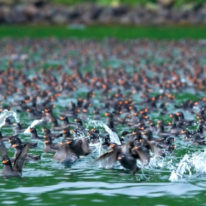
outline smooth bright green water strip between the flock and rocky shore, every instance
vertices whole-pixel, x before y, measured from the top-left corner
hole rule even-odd
[[[1,25],[0,38],[79,38],[79,39],[205,39],[206,27],[204,25],[182,26],[132,26],[132,25],[96,25],[75,29],[66,26],[41,26],[41,25]]]

